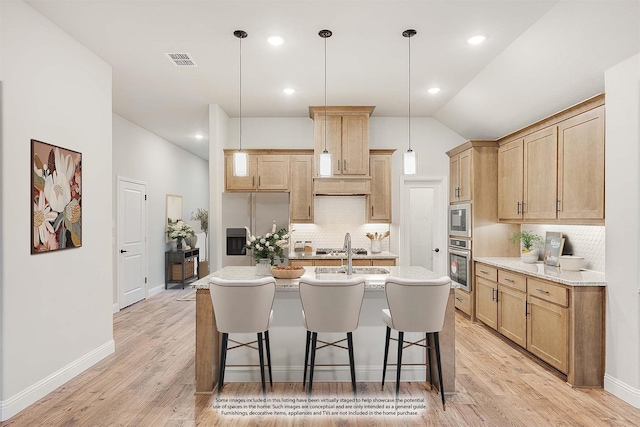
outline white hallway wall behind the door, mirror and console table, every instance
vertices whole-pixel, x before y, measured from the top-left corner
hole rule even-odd
[[[204,142],[203,142],[204,144]],[[113,114],[113,218],[117,219],[117,177],[147,184],[147,250],[148,289],[164,288],[164,253],[175,246],[166,243],[166,195],[182,196],[184,220],[197,208],[209,206],[209,164],[194,154]],[[204,234],[198,237],[201,259],[204,259]],[[114,247],[113,302],[118,302]]]

